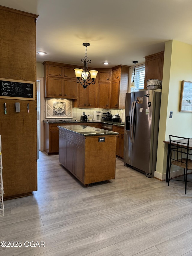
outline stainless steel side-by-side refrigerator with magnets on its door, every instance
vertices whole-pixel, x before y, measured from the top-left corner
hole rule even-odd
[[[156,170],[161,92],[126,93],[125,166],[153,177]]]

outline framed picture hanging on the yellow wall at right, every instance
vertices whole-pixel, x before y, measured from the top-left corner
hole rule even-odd
[[[192,112],[192,82],[182,81],[179,111]]]

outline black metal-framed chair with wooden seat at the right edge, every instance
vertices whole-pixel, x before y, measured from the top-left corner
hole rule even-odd
[[[187,194],[187,171],[192,170],[192,160],[188,159],[189,155],[189,138],[169,135],[170,138],[170,164],[168,175],[168,186],[170,180],[184,181],[185,194]],[[170,178],[171,165],[177,165],[184,169],[183,180]],[[190,181],[191,182],[191,181]]]

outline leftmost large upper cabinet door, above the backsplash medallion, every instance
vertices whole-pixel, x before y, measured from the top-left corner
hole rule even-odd
[[[61,98],[63,95],[63,79],[56,77],[47,78],[47,97]]]

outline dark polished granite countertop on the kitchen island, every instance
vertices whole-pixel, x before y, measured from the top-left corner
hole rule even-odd
[[[118,132],[107,131],[100,128],[91,127],[88,125],[58,125],[58,128],[67,129],[83,136],[107,136],[118,135]]]

